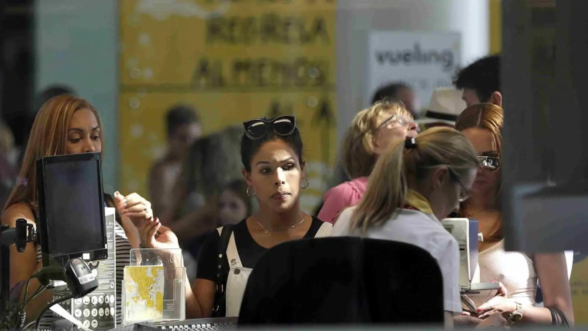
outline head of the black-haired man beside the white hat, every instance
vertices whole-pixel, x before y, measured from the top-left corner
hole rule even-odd
[[[467,107],[482,102],[502,107],[500,55],[486,56],[466,66],[457,73],[453,85],[463,89],[462,99]]]

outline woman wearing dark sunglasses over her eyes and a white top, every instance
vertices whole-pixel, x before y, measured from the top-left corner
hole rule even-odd
[[[500,158],[502,157],[503,110],[492,103],[470,106],[459,116],[456,129],[476,149],[479,168],[472,197],[460,205],[460,216],[477,219],[483,242],[479,243],[480,282],[500,282],[499,293],[470,298],[479,306],[479,316],[502,313],[511,323],[552,323],[552,314],[534,307],[537,278],[544,305],[566,314],[573,324],[572,297],[564,253],[535,254],[505,252],[500,212]],[[533,261],[534,260],[534,261]]]

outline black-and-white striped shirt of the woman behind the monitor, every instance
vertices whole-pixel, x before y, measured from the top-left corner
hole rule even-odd
[[[116,326],[120,326],[122,322],[121,286],[125,266],[128,266],[130,263],[129,253],[131,252],[132,246],[126,236],[125,229],[123,229],[118,222],[115,222],[114,224],[114,233],[116,240]],[[39,245],[36,246],[36,258],[38,263],[43,263],[41,256],[41,246]],[[53,320],[53,313],[51,310],[49,310],[43,315],[43,318],[41,319],[41,329],[51,329],[51,323]]]

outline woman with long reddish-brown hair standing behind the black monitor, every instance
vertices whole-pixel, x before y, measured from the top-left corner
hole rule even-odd
[[[16,220],[21,218],[36,225],[38,217],[36,159],[45,156],[101,151],[102,122],[98,112],[89,102],[70,95],[56,96],[45,102],[32,126],[18,183],[12,189],[2,211],[2,225],[8,225],[12,228],[15,226]],[[123,268],[129,263],[129,250],[138,248],[140,243],[139,233],[134,224],[153,219],[153,213],[151,203],[136,193],[122,196],[115,192],[113,198],[105,195],[105,201],[106,205],[115,207],[120,213],[117,215],[115,223],[116,289],[118,292],[116,299],[118,313],[116,316],[117,320],[120,320],[120,289]],[[156,222],[159,221],[156,220]],[[41,248],[38,243],[29,243],[23,253],[18,253],[12,246],[10,255],[11,287],[26,282],[33,273],[42,268]],[[40,283],[36,279],[32,279],[29,293],[34,293],[39,286]],[[51,291],[45,290],[28,303],[26,315],[36,318],[51,301]],[[51,315],[51,312],[44,315],[41,323],[43,329],[51,328]]]

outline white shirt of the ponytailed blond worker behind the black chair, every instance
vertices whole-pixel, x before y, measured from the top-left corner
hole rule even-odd
[[[341,212],[333,225],[331,236],[360,236],[359,230],[350,232],[349,224],[354,207]],[[443,275],[444,310],[462,312],[459,287],[459,246],[434,215],[417,210],[402,209],[395,218],[382,226],[368,229],[366,238],[394,240],[419,246],[439,263]]]

